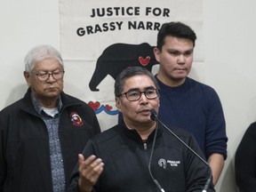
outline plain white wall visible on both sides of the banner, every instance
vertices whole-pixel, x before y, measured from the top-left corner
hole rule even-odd
[[[0,0],[0,109],[27,90],[23,58],[36,44],[60,49],[57,0]],[[234,156],[256,120],[256,1],[204,0],[205,82],[219,93],[228,133],[228,159],[216,187],[235,192]],[[66,79],[66,81],[68,81]]]

